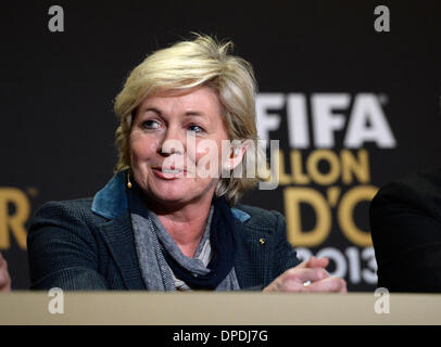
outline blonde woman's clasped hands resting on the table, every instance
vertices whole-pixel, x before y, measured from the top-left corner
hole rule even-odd
[[[346,293],[346,282],[337,277],[330,277],[325,270],[328,258],[312,257],[288,269],[263,292],[293,292],[293,293]]]

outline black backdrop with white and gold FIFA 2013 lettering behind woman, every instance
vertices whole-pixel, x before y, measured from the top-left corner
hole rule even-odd
[[[53,4],[64,10],[63,33],[48,29]],[[390,10],[390,33],[374,29],[380,4]],[[128,72],[190,31],[231,39],[254,66],[260,100],[279,100],[260,117],[276,114],[280,121],[268,136],[280,140],[287,176],[277,190],[253,191],[242,202],[290,215],[288,233],[311,236],[310,244],[294,242],[299,254],[329,256],[330,271],[344,275],[350,290],[375,287],[365,237],[369,196],[392,179],[438,165],[439,2],[21,1],[2,3],[0,13],[0,250],[14,288],[29,283],[24,240],[36,209],[50,200],[93,195],[112,177],[112,102]],[[304,102],[304,112],[288,110],[288,100]],[[323,124],[326,100],[340,104],[333,113],[344,125],[323,145],[326,136],[312,129]],[[306,145],[288,131],[299,115],[310,125]],[[390,141],[366,137],[348,144],[349,120],[357,116],[365,129],[389,129]],[[290,160],[291,151],[303,164]],[[352,181],[339,171],[342,151],[357,163],[368,159]],[[305,164],[312,156],[318,157],[317,179]],[[308,177],[303,183],[292,178],[295,165]],[[326,182],[333,169],[336,179]],[[306,197],[295,205],[295,196]]]

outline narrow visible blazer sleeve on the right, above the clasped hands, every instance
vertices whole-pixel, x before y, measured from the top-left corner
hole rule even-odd
[[[279,211],[273,210],[272,213],[276,216],[277,220],[273,268],[273,280],[275,280],[286,270],[298,266],[300,264],[300,260],[297,257],[297,252],[288,242],[285,217]]]

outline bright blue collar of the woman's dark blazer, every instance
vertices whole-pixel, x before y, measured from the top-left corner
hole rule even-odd
[[[127,211],[126,171],[117,172],[94,196],[92,211],[108,219],[114,219]],[[245,211],[231,208],[232,215],[242,223],[251,218]]]

